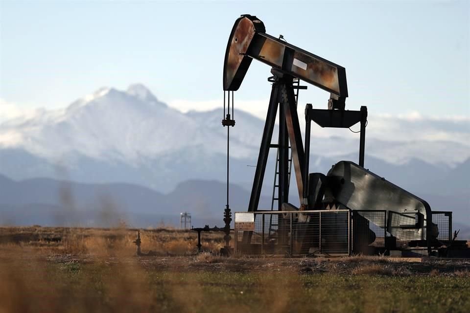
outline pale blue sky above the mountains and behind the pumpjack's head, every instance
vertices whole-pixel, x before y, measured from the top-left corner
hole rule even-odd
[[[348,109],[470,118],[469,3],[2,0],[0,106],[65,107],[138,82],[181,110],[221,106],[228,36],[252,14],[268,34],[346,67]],[[235,106],[263,111],[269,75],[253,62]],[[328,97],[312,86],[300,100],[326,108]]]

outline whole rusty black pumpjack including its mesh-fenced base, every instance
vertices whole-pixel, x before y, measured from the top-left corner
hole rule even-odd
[[[367,107],[362,106],[359,111],[346,110],[348,86],[345,68],[285,42],[282,36],[268,35],[264,23],[251,15],[242,15],[235,21],[225,52],[222,124],[228,128],[227,154],[229,129],[235,126],[233,92],[240,88],[253,60],[271,67],[272,76],[268,81],[272,89],[247,210],[253,213],[253,221],[250,222],[253,228],[243,229],[239,238],[235,213],[235,245],[238,244],[239,250],[253,253],[289,249],[290,253],[328,253],[326,251],[334,250],[341,237],[347,238],[347,254],[395,250],[447,256],[468,254],[463,241],[456,241],[455,236],[451,238],[451,212],[431,211],[423,199],[364,168]],[[311,104],[306,104],[305,140],[297,114],[299,89],[306,89],[300,82],[329,92],[327,109],[314,109]],[[279,137],[277,143],[272,143],[276,116]],[[350,128],[360,123],[358,163],[342,160],[334,164],[326,175],[309,173],[310,150],[318,149],[320,144],[310,142],[312,121],[323,128]],[[274,204],[272,211],[266,212],[269,210],[258,209],[258,204],[272,148],[277,149],[274,182],[277,193],[273,192],[277,212],[273,210]],[[228,201],[228,160],[224,214],[227,243],[232,221]],[[300,207],[289,202],[292,165]],[[337,213],[341,212],[345,213],[340,217]],[[257,219],[261,221],[258,223]],[[348,227],[339,227],[345,223]]]

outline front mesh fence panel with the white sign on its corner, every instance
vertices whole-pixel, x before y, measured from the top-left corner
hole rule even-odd
[[[253,222],[246,224],[248,219]],[[349,255],[351,226],[350,210],[235,212],[235,250],[249,254]]]

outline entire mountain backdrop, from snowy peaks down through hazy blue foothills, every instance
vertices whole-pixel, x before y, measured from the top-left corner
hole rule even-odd
[[[98,89],[63,110],[37,110],[3,121],[2,223],[40,224],[32,217],[73,207],[73,212],[88,212],[77,217],[80,223],[99,224],[100,218],[91,212],[107,206],[140,226],[162,219],[174,222],[180,211],[192,212],[201,223],[214,221],[217,214],[215,220],[221,221],[227,149],[222,115],[221,109],[179,112],[138,84],[125,91]],[[256,164],[264,121],[243,111],[235,111],[235,120],[231,206],[244,211],[254,175],[247,165]],[[341,159],[356,161],[358,134],[341,131],[313,128],[311,172],[326,173]],[[262,206],[270,205],[274,150],[270,157]],[[470,224],[469,157],[467,119],[369,117],[365,167],[433,208],[454,211],[454,221],[464,224]],[[67,199],[73,199],[73,205]],[[10,213],[20,211],[24,214],[11,220]],[[43,221],[54,223],[52,218]]]

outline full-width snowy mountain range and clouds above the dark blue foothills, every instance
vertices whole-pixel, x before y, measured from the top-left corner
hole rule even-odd
[[[101,88],[65,109],[36,110],[1,123],[0,173],[13,179],[129,182],[162,192],[187,179],[223,181],[227,128],[221,126],[222,115],[221,109],[182,113],[141,84],[127,90]],[[256,164],[264,122],[238,110],[234,117],[232,181],[249,189],[254,169],[247,165]],[[423,181],[416,175],[395,175],[397,168],[414,168],[429,177],[470,157],[470,123],[465,119],[369,119],[366,167],[390,172],[399,178],[397,183],[400,177],[414,186]],[[357,151],[358,134],[312,128],[312,171],[326,172],[340,159],[355,160]],[[275,156],[270,157],[274,162]]]

